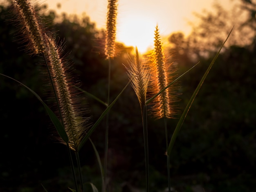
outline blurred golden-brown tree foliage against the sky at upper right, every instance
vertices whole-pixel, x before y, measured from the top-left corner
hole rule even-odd
[[[231,45],[242,47],[251,45],[256,36],[255,4],[240,1],[234,4],[234,7],[229,7],[229,9],[230,11],[215,3],[213,11],[204,10],[203,13],[195,13],[198,22],[190,22],[192,26],[191,34],[186,38],[178,37],[179,33],[173,34],[169,37],[169,42],[189,51],[187,54],[195,60],[202,56],[211,57],[218,50],[218,47],[222,45],[222,42],[234,26],[225,48]],[[180,38],[184,38],[182,44],[177,40]],[[175,49],[175,46],[173,49]]]

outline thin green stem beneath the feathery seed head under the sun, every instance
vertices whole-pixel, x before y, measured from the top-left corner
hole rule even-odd
[[[145,151],[145,167],[146,167],[146,192],[149,191],[149,164],[148,164],[148,120],[147,120],[147,105],[143,106],[142,125],[144,137],[144,151]]]

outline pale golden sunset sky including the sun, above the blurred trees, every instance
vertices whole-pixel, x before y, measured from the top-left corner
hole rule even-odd
[[[0,0],[2,1],[2,0]],[[160,34],[167,36],[172,32],[182,31],[188,35],[196,22],[194,12],[211,10],[218,2],[225,8],[239,0],[119,0],[117,15],[117,41],[127,46],[137,46],[141,52],[153,45],[155,26]],[[105,28],[108,0],[39,0],[48,4],[49,10],[57,13],[67,12],[81,14],[85,12],[97,28]],[[57,8],[57,4],[61,8]]]

